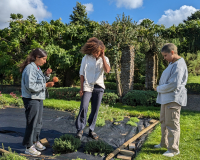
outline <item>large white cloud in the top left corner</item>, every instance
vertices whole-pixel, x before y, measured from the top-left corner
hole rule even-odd
[[[51,17],[42,0],[0,0],[0,8],[0,29],[9,26],[11,13],[20,13],[24,18],[33,14],[38,21]]]

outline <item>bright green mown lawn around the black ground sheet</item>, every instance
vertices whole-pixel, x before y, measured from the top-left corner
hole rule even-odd
[[[5,96],[9,102],[12,97]],[[80,102],[66,101],[57,99],[46,99],[44,106],[56,110],[67,110],[78,114]],[[89,107],[90,108],[90,107]],[[90,109],[89,109],[90,112]],[[89,114],[88,112],[88,114]],[[127,106],[116,104],[108,106],[102,104],[98,114],[97,125],[102,126],[105,120],[121,119],[122,116],[150,117],[158,119],[160,107],[145,106]],[[173,157],[178,160],[197,160],[200,159],[200,112],[181,111],[181,138],[180,138],[180,155]],[[160,143],[161,128],[157,125],[155,130],[148,136],[147,141],[143,144],[142,150],[136,157],[136,160],[168,160],[162,156],[166,149],[155,149],[154,145]]]

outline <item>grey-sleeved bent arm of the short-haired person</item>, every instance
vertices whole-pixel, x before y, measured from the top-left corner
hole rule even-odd
[[[184,70],[177,68],[172,73],[166,84],[157,86],[157,92],[158,93],[173,92],[176,88],[178,88],[181,85],[183,75],[184,75]]]

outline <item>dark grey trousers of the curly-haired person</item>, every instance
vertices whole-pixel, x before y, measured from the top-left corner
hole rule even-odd
[[[81,106],[75,125],[77,131],[83,130],[87,124],[87,111],[91,99],[91,113],[88,119],[90,130],[94,131],[99,107],[103,97],[104,89],[98,85],[94,86],[93,92],[84,92],[81,98]]]

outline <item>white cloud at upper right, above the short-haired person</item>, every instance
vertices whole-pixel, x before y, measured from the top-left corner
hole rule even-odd
[[[192,13],[196,12],[198,9],[192,6],[182,6],[178,10],[166,10],[165,14],[158,20],[158,24],[164,24],[166,27],[170,27],[173,24],[178,25],[182,23],[183,20],[187,19]]]

